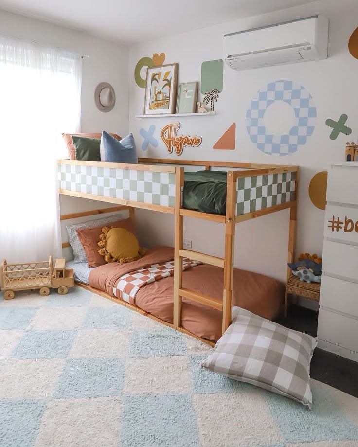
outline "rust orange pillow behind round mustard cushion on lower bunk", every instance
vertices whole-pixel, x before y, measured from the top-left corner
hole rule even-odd
[[[125,228],[125,230],[128,230],[129,232],[136,235],[134,223],[130,218],[111,222],[110,224],[108,224],[108,227]],[[83,246],[83,250],[85,250],[89,267],[99,267],[107,264],[107,261],[105,261],[104,257],[98,253],[97,243],[100,240],[100,234],[103,233],[102,228],[103,225],[101,225],[100,227],[83,228],[82,230],[76,230],[78,239]]]

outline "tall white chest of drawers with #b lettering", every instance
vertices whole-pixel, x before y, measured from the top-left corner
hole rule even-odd
[[[358,361],[358,162],[331,163],[318,346]]]

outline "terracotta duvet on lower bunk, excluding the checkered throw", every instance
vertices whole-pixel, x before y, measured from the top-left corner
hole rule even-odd
[[[139,260],[111,263],[90,272],[89,284],[114,296],[113,288],[119,278],[133,270],[161,264],[174,259],[174,249],[157,247],[147,251]],[[222,300],[223,269],[208,264],[183,272],[183,287]],[[136,294],[131,304],[166,322],[173,322],[174,277],[147,284]],[[279,281],[258,273],[234,269],[233,305],[243,307],[263,318],[272,320],[281,310],[285,287]],[[218,340],[221,337],[222,313],[216,309],[183,298],[182,326],[199,337]]]

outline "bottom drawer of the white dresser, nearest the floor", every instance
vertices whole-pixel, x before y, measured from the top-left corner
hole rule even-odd
[[[320,309],[318,338],[358,352],[358,320]]]

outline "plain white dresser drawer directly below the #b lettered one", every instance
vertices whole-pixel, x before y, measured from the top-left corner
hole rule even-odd
[[[323,242],[322,271],[358,281],[358,246]]]

